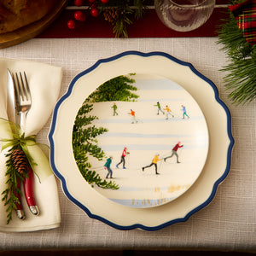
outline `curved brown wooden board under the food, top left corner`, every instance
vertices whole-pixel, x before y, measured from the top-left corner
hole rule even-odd
[[[61,14],[61,11],[66,7],[66,5],[67,0],[57,1],[55,8],[41,20],[35,21],[27,26],[20,27],[14,32],[0,34],[0,49],[20,44],[26,40],[36,37]]]

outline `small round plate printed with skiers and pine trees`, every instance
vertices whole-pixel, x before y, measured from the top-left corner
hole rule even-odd
[[[156,207],[182,195],[200,175],[207,151],[207,123],[195,100],[172,80],[150,74],[100,84],[84,99],[73,128],[85,181],[127,207]]]

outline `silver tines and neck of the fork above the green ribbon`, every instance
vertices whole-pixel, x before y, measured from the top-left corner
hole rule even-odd
[[[31,108],[32,100],[29,85],[26,79],[26,73],[15,73],[13,75],[15,84],[15,97],[17,112],[20,114],[21,131],[25,131],[26,127],[26,113]]]

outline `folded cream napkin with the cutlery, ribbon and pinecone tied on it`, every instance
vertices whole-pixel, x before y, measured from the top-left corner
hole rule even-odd
[[[61,224],[49,147],[36,142],[61,87],[61,67],[1,59],[0,230],[53,229]],[[50,75],[49,75],[50,74]]]

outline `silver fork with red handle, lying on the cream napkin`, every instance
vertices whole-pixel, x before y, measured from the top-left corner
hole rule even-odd
[[[26,128],[26,114],[32,106],[32,97],[29,89],[29,85],[26,78],[26,73],[15,73],[13,75],[14,85],[15,85],[15,98],[16,98],[16,110],[20,114],[20,129],[21,133],[25,131]],[[38,206],[35,203],[32,189],[32,179],[33,172],[31,166],[28,166],[28,177],[23,181],[23,189],[26,197],[26,203],[34,215],[39,214]]]

